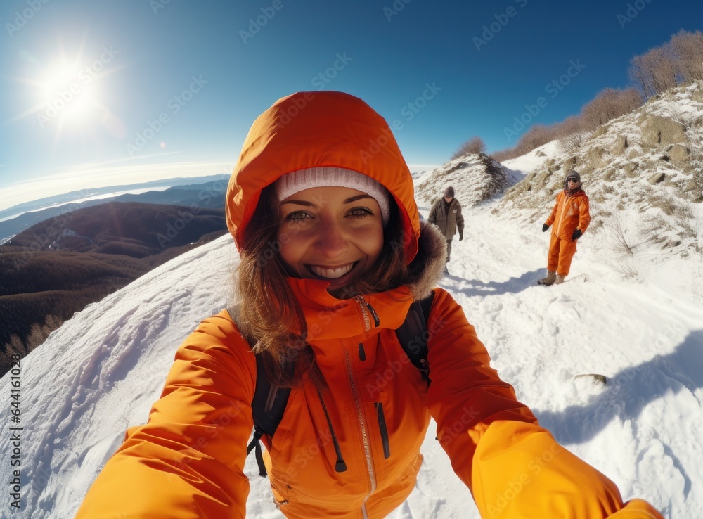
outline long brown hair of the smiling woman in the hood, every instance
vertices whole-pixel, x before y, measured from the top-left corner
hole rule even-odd
[[[254,216],[242,233],[237,281],[241,326],[245,333],[256,338],[252,350],[263,354],[266,375],[272,384],[297,386],[309,374],[318,387],[324,387],[321,374],[315,369],[314,353],[305,342],[307,323],[288,285],[290,273],[278,253],[280,220],[280,205],[272,184],[262,190]],[[404,245],[410,238],[404,234],[398,207],[392,199],[383,238],[383,248],[375,264],[364,274],[363,281],[359,279],[344,290],[344,298],[384,292],[408,282]],[[286,369],[291,362],[295,365],[292,372]]]

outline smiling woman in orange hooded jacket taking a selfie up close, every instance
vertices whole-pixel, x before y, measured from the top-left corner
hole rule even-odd
[[[387,143],[363,153],[381,135]],[[333,91],[277,101],[247,136],[226,215],[240,254],[236,319],[268,369],[230,312],[202,321],[77,519],[243,518],[259,376],[292,387],[264,436],[289,519],[391,513],[415,488],[431,418],[482,517],[663,519],[645,501],[624,503],[498,378],[463,309],[436,288],[446,239],[420,224],[406,162],[366,103]],[[395,329],[432,291],[427,385]]]

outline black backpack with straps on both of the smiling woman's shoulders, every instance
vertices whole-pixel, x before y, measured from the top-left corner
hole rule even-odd
[[[408,359],[413,363],[423,376],[423,380],[429,386],[432,380],[430,379],[430,365],[427,364],[427,319],[430,317],[430,308],[434,301],[434,290],[430,295],[423,300],[414,301],[408,309],[405,321],[396,329],[396,336]],[[227,309],[232,320],[236,323],[237,328],[240,328],[239,314],[240,305],[234,305]],[[241,331],[241,330],[240,330]],[[244,338],[249,343],[250,347],[256,344],[256,339],[249,335],[244,335]],[[252,399],[252,415],[254,417],[254,437],[247,446],[247,456],[255,449],[255,456],[259,465],[259,475],[266,477],[266,467],[264,466],[264,457],[262,456],[261,437],[268,435],[273,438],[273,433],[278,428],[285,406],[288,404],[290,396],[290,387],[276,387],[271,385],[271,381],[266,377],[264,369],[264,357],[262,354],[256,354],[257,360],[257,385],[254,389],[254,398]],[[287,368],[292,373],[295,369],[295,364],[290,363]],[[326,411],[325,411],[326,414]],[[339,466],[340,463],[342,466]],[[337,471],[343,472],[347,470],[344,461],[337,463]]]

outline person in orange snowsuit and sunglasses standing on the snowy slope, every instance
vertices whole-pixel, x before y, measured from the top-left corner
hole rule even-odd
[[[557,194],[551,214],[542,225],[542,232],[545,232],[555,224],[547,254],[547,277],[539,280],[541,285],[564,283],[576,254],[576,241],[590,223],[588,196],[581,188],[581,175],[572,169],[564,181],[564,189]]]

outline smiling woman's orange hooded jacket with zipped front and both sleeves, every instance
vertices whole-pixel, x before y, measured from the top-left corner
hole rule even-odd
[[[430,387],[409,363],[394,328],[436,283],[444,241],[430,224],[420,229],[411,177],[389,134],[352,96],[295,94],[254,123],[230,184],[228,219],[238,238],[262,187],[280,174],[318,165],[365,172],[401,207],[402,245],[420,267],[407,286],[350,300],[329,295],[325,281],[290,278],[330,388],[321,395],[309,383],[292,390],[273,441],[266,438],[280,511],[300,519],[384,517],[415,486],[432,417],[484,517],[661,519],[644,501],[624,506],[610,480],[537,425],[444,290],[437,289],[429,318]],[[179,347],[148,423],[127,432],[77,518],[244,517],[256,376],[254,355],[228,313],[202,321]],[[331,430],[344,472],[335,470]]]

